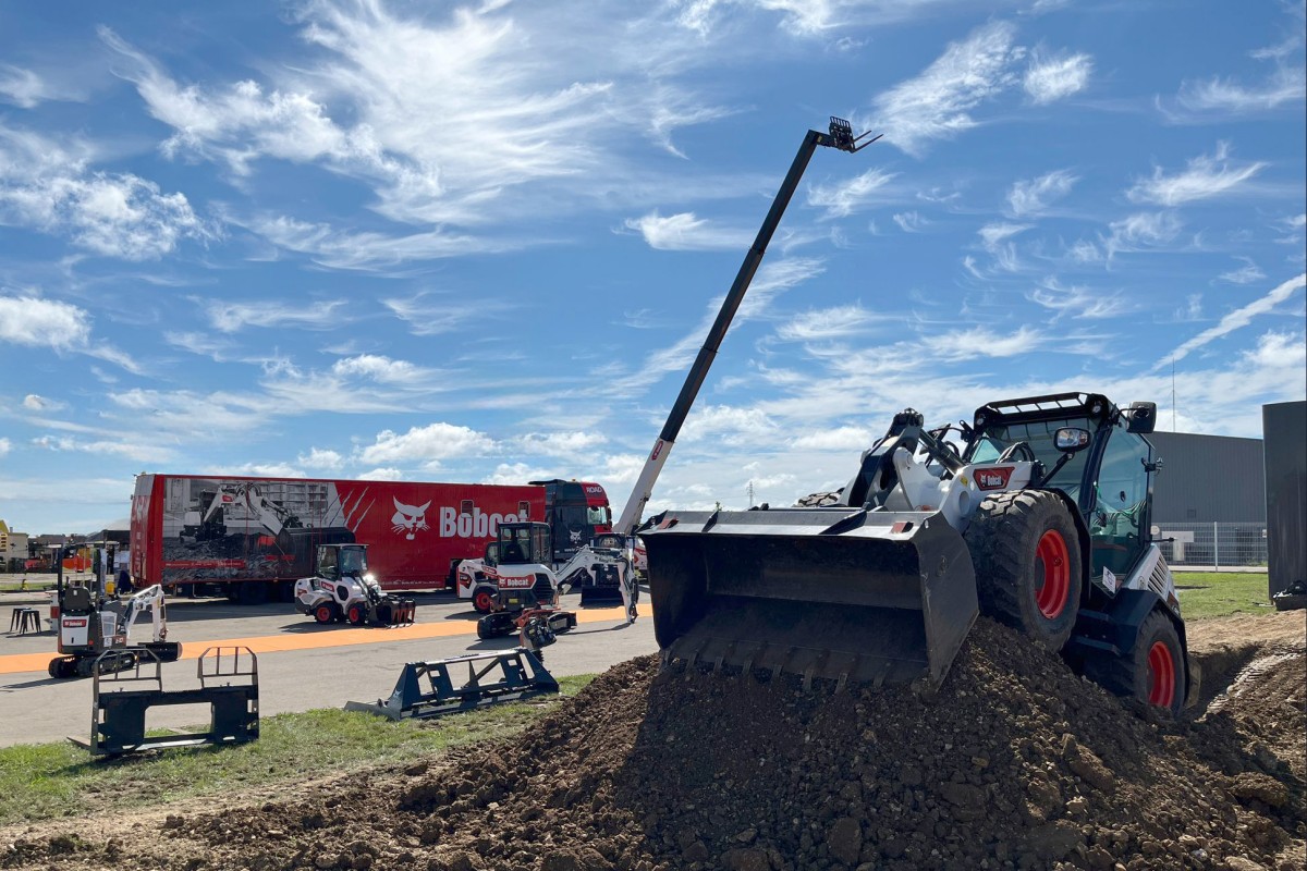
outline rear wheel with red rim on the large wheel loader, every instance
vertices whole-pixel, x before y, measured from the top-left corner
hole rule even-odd
[[[1180,635],[1162,611],[1144,618],[1132,650],[1120,657],[1086,659],[1085,675],[1117,696],[1137,699],[1172,714],[1180,713],[1188,689]]]

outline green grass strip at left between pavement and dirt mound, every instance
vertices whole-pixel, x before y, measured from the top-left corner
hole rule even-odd
[[[593,675],[561,678],[563,696]],[[391,722],[333,709],[264,717],[259,739],[238,747],[165,750],[94,760],[67,742],[0,748],[0,825],[93,815],[133,804],[230,794],[430,757],[524,730],[557,697],[427,721]],[[165,730],[166,734],[166,730]]]

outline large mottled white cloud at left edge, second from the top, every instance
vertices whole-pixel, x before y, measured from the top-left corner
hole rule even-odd
[[[214,238],[184,195],[129,172],[94,171],[88,154],[0,125],[0,222],[120,260],[157,260],[183,239]]]

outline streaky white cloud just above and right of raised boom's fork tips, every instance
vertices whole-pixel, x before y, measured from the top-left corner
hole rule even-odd
[[[931,140],[951,138],[975,127],[971,111],[1016,82],[1010,65],[1023,54],[1013,46],[1016,29],[991,22],[945,52],[916,78],[899,82],[874,99],[876,123],[885,140],[920,155]]]

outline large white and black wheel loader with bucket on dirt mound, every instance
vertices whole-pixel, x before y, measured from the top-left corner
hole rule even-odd
[[[984,612],[1179,710],[1197,675],[1149,535],[1155,413],[1094,393],[991,402],[958,447],[907,409],[836,504],[654,517],[659,646],[806,683],[938,686]]]

